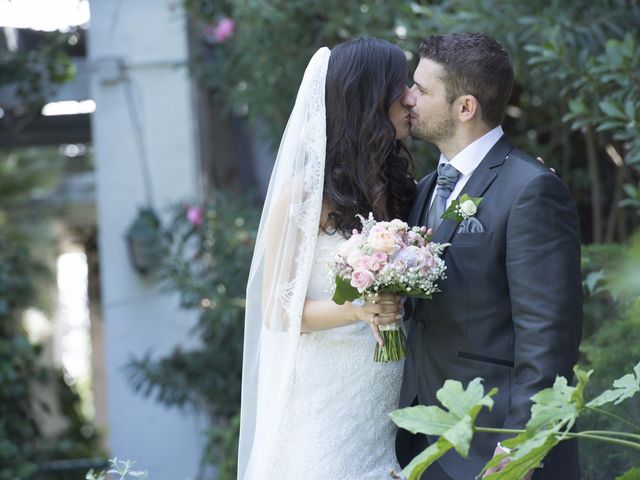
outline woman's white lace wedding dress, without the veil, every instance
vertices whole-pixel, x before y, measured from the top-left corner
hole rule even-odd
[[[327,266],[344,241],[318,236],[307,298],[331,298]],[[301,335],[269,479],[385,479],[400,471],[387,414],[398,406],[403,362],[374,363],[374,342],[364,322]]]

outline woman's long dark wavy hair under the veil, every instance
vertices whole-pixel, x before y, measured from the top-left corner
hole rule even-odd
[[[416,195],[413,161],[395,139],[388,113],[406,77],[404,53],[385,40],[360,38],[331,51],[325,92],[325,231],[348,237],[361,227],[356,214],[369,212],[376,220],[406,220]]]

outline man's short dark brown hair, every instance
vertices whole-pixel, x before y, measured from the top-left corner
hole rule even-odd
[[[420,44],[420,58],[439,63],[449,103],[461,95],[473,95],[482,120],[489,126],[502,123],[511,97],[513,69],[509,54],[484,33],[433,35]]]

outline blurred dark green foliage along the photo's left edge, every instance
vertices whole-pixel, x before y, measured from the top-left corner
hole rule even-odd
[[[47,460],[97,452],[98,437],[86,429],[77,394],[62,372],[38,364],[40,347],[22,327],[25,309],[50,309],[55,250],[43,201],[61,167],[37,149],[0,152],[0,480],[32,478]],[[41,435],[34,382],[52,384],[60,395],[70,426],[57,438]],[[47,403],[38,406],[49,409]]]

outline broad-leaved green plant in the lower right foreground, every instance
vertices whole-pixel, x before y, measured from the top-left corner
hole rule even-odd
[[[584,391],[591,374],[591,371],[576,366],[575,387],[570,386],[566,378],[557,377],[553,387],[541,390],[531,397],[533,406],[526,428],[516,437],[502,442],[506,447],[513,449],[512,452],[493,458],[480,474],[509,457],[509,463],[501,471],[488,475],[487,479],[521,480],[527,472],[540,467],[544,458],[558,443],[568,437],[580,436],[579,433],[570,433],[580,414],[608,403],[618,404],[640,392],[638,363],[633,373],[613,382],[612,390],[607,390],[586,402]],[[433,462],[452,448],[466,458],[474,431],[483,430],[482,426],[475,425],[475,419],[483,407],[492,408],[491,397],[496,392],[497,389],[494,388],[485,395],[481,378],[470,382],[466,390],[460,382],[447,380],[437,393],[438,400],[447,410],[436,406],[417,406],[391,412],[391,419],[400,428],[412,433],[440,437],[414,458],[400,475],[403,478],[408,477],[409,480],[420,478]],[[632,469],[618,480],[640,480],[640,470]]]

